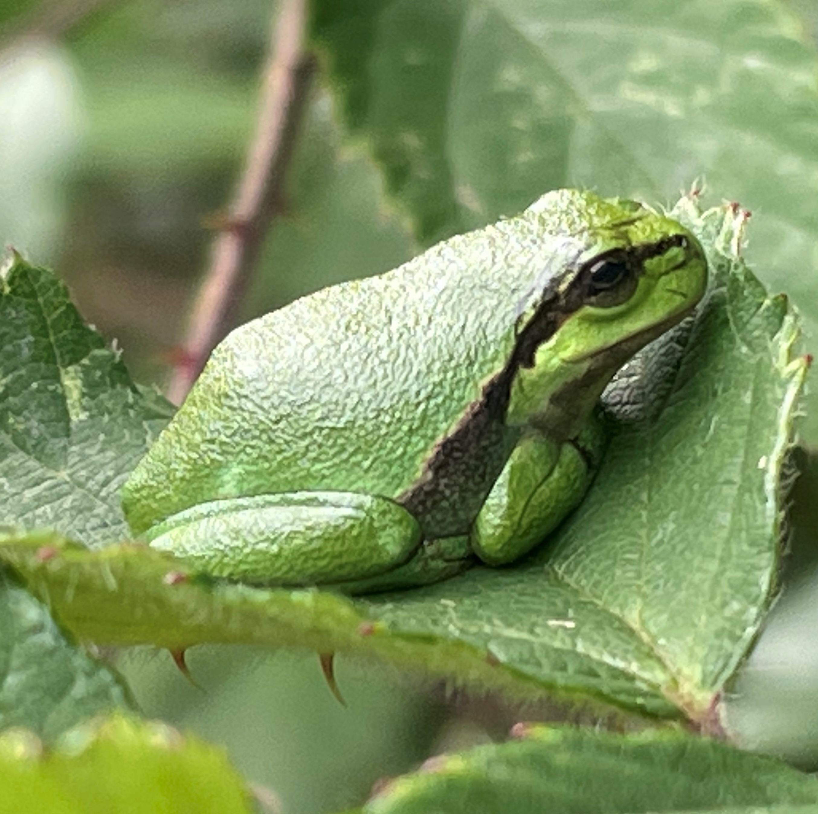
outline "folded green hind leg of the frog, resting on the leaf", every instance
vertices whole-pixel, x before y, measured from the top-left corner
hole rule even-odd
[[[420,548],[422,535],[416,519],[387,498],[292,492],[201,503],[146,538],[213,576],[317,585],[395,570]]]

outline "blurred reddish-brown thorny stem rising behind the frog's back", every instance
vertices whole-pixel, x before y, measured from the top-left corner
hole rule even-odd
[[[193,305],[187,337],[168,387],[184,398],[216,343],[231,327],[249,274],[281,202],[281,186],[315,60],[304,51],[306,0],[285,0],[263,72],[258,122],[236,196],[213,242],[209,270]]]

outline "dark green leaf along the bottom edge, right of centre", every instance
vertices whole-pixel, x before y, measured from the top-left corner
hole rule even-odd
[[[362,812],[818,812],[815,777],[712,740],[519,731],[522,740],[432,758],[386,784]]]

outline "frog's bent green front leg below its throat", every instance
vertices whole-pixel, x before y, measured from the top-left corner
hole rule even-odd
[[[483,562],[513,562],[542,542],[578,506],[605,447],[596,414],[573,441],[525,434],[483,503],[471,530],[471,548]]]

